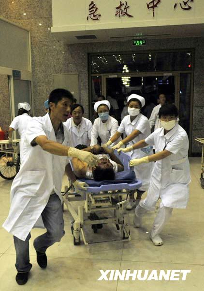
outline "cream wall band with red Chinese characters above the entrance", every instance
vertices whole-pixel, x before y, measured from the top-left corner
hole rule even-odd
[[[204,0],[189,2],[192,6],[190,10],[181,9],[181,0],[161,0],[158,8],[155,8],[154,18],[152,10],[148,10],[146,5],[150,0],[127,0],[130,6],[127,12],[133,17],[115,16],[119,0],[95,0],[97,13],[101,14],[97,21],[90,18],[87,20],[90,2],[91,0],[52,0],[52,32],[204,23]],[[174,9],[175,3],[177,7]]]

